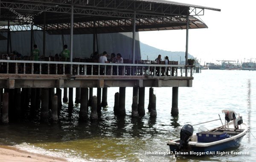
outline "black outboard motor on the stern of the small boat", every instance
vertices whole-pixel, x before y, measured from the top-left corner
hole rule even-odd
[[[180,145],[178,146],[176,151],[180,150],[188,150],[188,139],[193,135],[194,128],[190,124],[185,124],[180,130]]]

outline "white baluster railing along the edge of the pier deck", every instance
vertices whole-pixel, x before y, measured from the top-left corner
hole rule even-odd
[[[113,64],[59,61],[0,60],[0,73],[39,75],[151,75],[190,76],[193,66],[165,64]],[[179,71],[179,72],[178,72]]]

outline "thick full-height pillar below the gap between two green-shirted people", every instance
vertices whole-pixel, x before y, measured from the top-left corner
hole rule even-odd
[[[49,109],[49,88],[42,88],[41,95],[41,121],[44,123],[48,123],[48,109]]]

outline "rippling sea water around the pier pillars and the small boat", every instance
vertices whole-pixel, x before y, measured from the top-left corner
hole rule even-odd
[[[119,89],[108,88],[108,107],[102,108],[102,116],[97,122],[79,122],[79,104],[75,105],[72,116],[67,113],[67,104],[63,104],[58,124],[40,124],[34,120],[0,125],[0,144],[77,162],[253,161],[256,158],[256,139],[252,135],[256,134],[256,71],[202,70],[202,73],[193,76],[193,87],[179,88],[178,117],[171,116],[172,87],[154,88],[157,118],[150,118],[149,113],[143,117],[131,117],[130,87],[126,88],[125,96],[127,115],[121,118],[114,116],[114,94]],[[149,88],[145,88],[146,112],[148,91]],[[249,117],[252,134],[243,138],[239,148],[203,157],[175,157],[169,154],[166,142],[179,138],[183,124],[218,119],[218,114],[224,122],[224,114],[221,113],[224,109],[240,113],[244,122],[248,122]],[[211,129],[219,125],[220,120],[201,124],[194,127],[194,133],[199,127]],[[244,152],[249,155],[241,154]]]

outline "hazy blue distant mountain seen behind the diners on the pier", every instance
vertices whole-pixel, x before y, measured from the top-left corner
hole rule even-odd
[[[181,62],[185,62],[185,52],[172,52],[172,51],[165,51],[162,49],[157,49],[155,47],[149,46],[140,42],[140,55],[142,60],[155,60],[158,55],[162,55],[162,59],[166,56],[169,57],[170,61],[179,61],[181,56]],[[194,56],[189,55],[188,58],[194,58]]]

